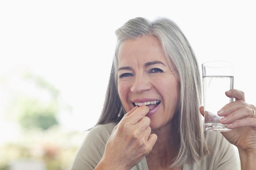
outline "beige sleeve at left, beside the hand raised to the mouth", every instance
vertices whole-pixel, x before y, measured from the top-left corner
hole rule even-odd
[[[94,170],[100,162],[116,124],[97,125],[92,128],[77,152],[71,170]]]

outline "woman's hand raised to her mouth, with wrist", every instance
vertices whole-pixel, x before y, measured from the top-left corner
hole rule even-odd
[[[134,107],[115,126],[95,169],[131,169],[152,150],[157,136],[151,134],[147,106]],[[108,167],[108,168],[107,168]]]

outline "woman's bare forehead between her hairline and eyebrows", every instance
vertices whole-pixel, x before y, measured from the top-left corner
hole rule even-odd
[[[134,60],[167,61],[159,39],[155,36],[144,36],[138,39],[127,39],[120,44],[117,54],[118,65],[127,64]]]

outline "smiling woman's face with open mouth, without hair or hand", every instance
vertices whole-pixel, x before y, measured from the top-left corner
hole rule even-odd
[[[118,94],[125,110],[147,105],[150,127],[172,119],[180,98],[180,84],[155,36],[125,40],[118,51]]]

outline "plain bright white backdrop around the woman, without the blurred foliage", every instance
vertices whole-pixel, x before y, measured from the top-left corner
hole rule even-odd
[[[84,131],[101,113],[115,30],[134,17],[166,16],[181,27],[200,65],[233,62],[234,87],[256,105],[255,8],[254,0],[1,0],[0,76],[27,67],[44,77],[72,106],[71,114],[60,114],[62,123]]]

